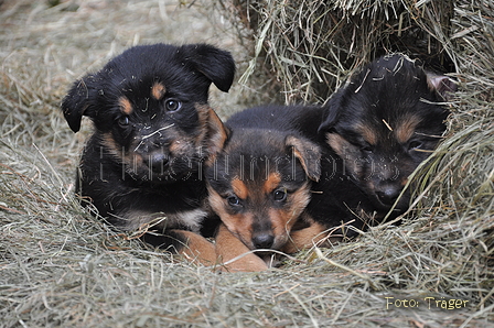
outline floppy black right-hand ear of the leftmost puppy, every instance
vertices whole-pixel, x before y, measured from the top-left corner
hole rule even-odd
[[[184,45],[187,61],[219,90],[227,92],[234,83],[235,61],[232,54],[208,44]]]

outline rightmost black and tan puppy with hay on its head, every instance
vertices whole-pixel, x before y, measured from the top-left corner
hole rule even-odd
[[[448,77],[395,54],[363,67],[324,107],[249,109],[257,120],[288,125],[321,145],[322,173],[307,207],[314,225],[292,232],[294,249],[311,245],[325,229],[351,222],[365,230],[391,209],[391,218],[405,212],[410,192],[404,187],[441,140],[449,114],[443,102],[454,90]]]

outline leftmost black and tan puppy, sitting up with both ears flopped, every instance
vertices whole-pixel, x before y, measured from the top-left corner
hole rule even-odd
[[[206,44],[129,48],[77,80],[62,110],[74,132],[83,116],[95,132],[79,165],[77,193],[111,225],[144,241],[215,261],[197,232],[208,216],[202,165],[224,139],[208,107],[211,83],[227,91],[235,63]]]

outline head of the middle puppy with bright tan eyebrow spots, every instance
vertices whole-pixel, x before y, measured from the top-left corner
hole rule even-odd
[[[206,170],[210,204],[250,250],[280,249],[319,179],[320,151],[312,142],[260,129],[233,132]]]

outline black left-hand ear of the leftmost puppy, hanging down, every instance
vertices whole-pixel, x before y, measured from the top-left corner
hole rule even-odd
[[[96,98],[96,89],[88,83],[89,78],[77,80],[65,98],[62,100],[62,112],[72,131],[80,129],[83,116],[87,116],[87,109]]]

